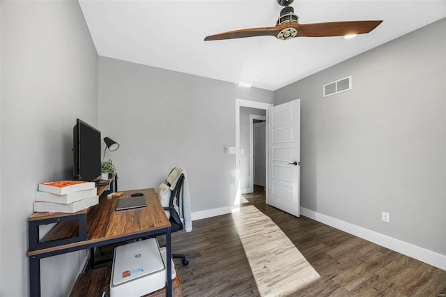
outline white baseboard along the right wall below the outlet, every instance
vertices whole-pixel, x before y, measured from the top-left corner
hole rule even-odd
[[[446,271],[446,255],[301,207],[300,214]]]

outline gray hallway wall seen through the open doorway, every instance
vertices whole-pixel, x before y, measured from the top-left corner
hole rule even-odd
[[[249,160],[252,160],[249,142],[249,115],[258,114],[266,116],[265,109],[251,107],[240,107],[240,149],[245,153],[240,153],[240,190],[249,189],[251,174]]]

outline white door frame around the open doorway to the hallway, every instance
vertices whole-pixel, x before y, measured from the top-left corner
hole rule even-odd
[[[240,107],[252,107],[268,111],[268,108],[273,106],[272,103],[236,98],[236,197],[234,197],[234,206],[238,205],[240,207]],[[268,112],[266,112],[266,123],[268,125]],[[266,132],[266,141],[268,142],[268,131]],[[268,147],[266,148],[266,158],[268,158]],[[268,185],[268,168],[266,168],[265,183]],[[268,192],[266,193],[266,201],[268,201]]]

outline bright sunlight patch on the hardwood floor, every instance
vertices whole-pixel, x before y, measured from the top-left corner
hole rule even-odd
[[[233,220],[261,296],[286,296],[321,278],[275,222],[254,206],[243,208]]]

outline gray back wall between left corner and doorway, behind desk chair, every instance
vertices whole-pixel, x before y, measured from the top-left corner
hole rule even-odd
[[[158,185],[172,167],[189,180],[192,213],[232,206],[236,197],[236,98],[273,102],[272,91],[100,57],[99,123],[119,142],[107,152],[120,190]]]

